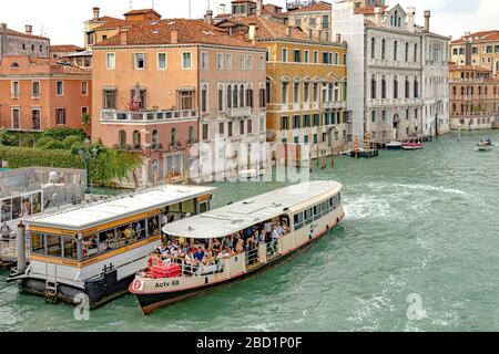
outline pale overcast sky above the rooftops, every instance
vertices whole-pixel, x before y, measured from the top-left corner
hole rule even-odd
[[[192,17],[201,18],[211,8],[217,12],[220,3],[230,0],[191,0]],[[154,8],[163,18],[189,17],[189,0],[132,0],[134,9]],[[285,7],[286,0],[264,0]],[[387,0],[388,6],[400,3],[416,7],[417,23],[422,24],[422,11],[431,10],[431,31],[458,39],[465,32],[499,30],[497,0]],[[33,25],[34,34],[44,34],[52,44],[83,45],[83,21],[92,18],[92,8],[100,7],[101,15],[121,18],[130,10],[131,0],[2,0],[0,22],[12,30],[24,31]]]

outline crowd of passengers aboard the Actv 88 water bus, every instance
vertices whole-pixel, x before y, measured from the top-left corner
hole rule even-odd
[[[254,264],[258,258],[258,244],[267,244],[267,253],[274,254],[277,241],[289,232],[286,218],[276,218],[257,223],[224,239],[196,240],[190,243],[185,238],[163,238],[155,253],[169,259],[184,260],[187,264],[216,264],[220,260],[243,252],[247,253],[248,264]]]

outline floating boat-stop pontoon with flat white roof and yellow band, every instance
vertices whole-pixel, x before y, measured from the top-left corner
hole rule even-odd
[[[165,185],[24,219],[30,264],[8,281],[53,301],[78,304],[86,295],[98,308],[128,292],[161,244],[163,225],[210,210],[213,189]]]

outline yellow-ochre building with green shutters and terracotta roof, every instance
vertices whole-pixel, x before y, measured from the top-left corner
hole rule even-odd
[[[330,155],[347,144],[347,45],[340,38],[319,41],[313,29],[305,33],[264,13],[224,17],[217,27],[266,50],[258,65],[267,72],[268,142],[297,152],[309,146],[309,156],[296,158]]]

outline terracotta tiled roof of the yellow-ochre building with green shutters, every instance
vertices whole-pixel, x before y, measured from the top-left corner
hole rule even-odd
[[[282,22],[273,21],[266,18],[249,15],[246,18],[233,18],[228,20],[234,23],[241,23],[249,27],[249,24],[256,24],[256,38],[257,39],[285,39],[287,38],[287,25]],[[292,38],[294,40],[308,41],[308,35],[298,28],[292,28]],[[314,38],[314,40],[317,40]]]

